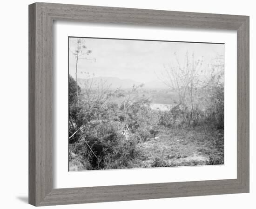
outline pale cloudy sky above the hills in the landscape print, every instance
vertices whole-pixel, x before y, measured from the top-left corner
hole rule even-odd
[[[79,59],[77,77],[87,78],[85,72],[95,77],[117,77],[149,82],[158,79],[164,66],[184,63],[186,52],[194,52],[195,59],[202,59],[206,67],[217,54],[224,55],[224,44],[185,43],[168,41],[93,39],[83,38],[92,53]],[[69,38],[69,74],[75,76],[76,60],[73,55],[77,38]],[[175,55],[176,54],[176,55]]]

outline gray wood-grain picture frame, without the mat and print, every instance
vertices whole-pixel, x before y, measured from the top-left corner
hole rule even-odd
[[[237,178],[53,189],[53,21],[237,31]],[[29,203],[35,206],[249,192],[249,17],[115,7],[29,5]]]

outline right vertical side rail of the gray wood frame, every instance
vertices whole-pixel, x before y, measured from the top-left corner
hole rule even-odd
[[[237,29],[237,179],[249,191],[249,18]]]

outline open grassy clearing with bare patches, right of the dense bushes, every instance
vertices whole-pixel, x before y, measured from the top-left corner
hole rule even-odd
[[[223,131],[162,128],[139,144],[140,167],[223,164]]]

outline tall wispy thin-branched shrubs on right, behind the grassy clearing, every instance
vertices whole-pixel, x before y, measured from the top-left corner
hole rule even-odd
[[[224,59],[218,55],[207,67],[194,53],[183,65],[176,56],[162,72],[162,82],[179,95],[179,103],[161,114],[159,124],[171,127],[207,124],[224,127]]]

